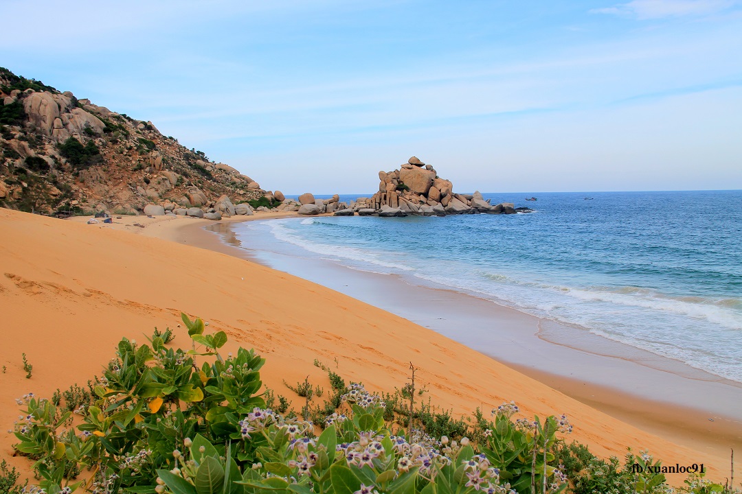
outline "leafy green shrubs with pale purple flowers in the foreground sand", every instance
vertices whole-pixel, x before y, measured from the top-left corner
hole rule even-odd
[[[307,378],[292,387],[305,398],[301,414],[281,396],[275,407],[260,380],[265,359],[241,347],[225,356],[226,333],[182,318],[185,350],[168,346],[170,330],[148,344],[122,338],[88,390],[75,384],[52,399],[17,400],[15,448],[38,480],[24,492],[673,492],[647,452],[629,450],[622,466],[566,444],[565,415],[523,418],[509,402],[464,421],[430,403],[416,407],[424,387],[412,365],[410,382],[384,395],[322,366],[332,389],[324,404],[310,404],[322,393]],[[4,492],[19,493],[16,471],[0,468]],[[736,492],[695,470],[676,492]]]

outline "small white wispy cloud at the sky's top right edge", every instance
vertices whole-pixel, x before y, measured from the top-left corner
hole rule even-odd
[[[708,16],[735,7],[739,0],[632,0],[591,13],[612,14],[641,21],[668,17]]]

